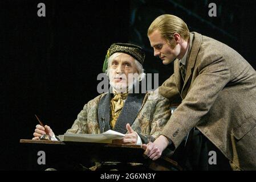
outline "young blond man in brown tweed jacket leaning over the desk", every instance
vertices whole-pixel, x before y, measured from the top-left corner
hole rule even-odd
[[[174,15],[157,17],[148,28],[154,55],[174,61],[174,74],[159,88],[180,96],[159,138],[144,144],[155,160],[171,144],[177,148],[196,127],[230,160],[233,169],[256,169],[256,72],[234,49],[197,32]]]

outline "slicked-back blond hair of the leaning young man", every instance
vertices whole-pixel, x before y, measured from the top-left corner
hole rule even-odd
[[[158,30],[165,40],[171,45],[173,34],[180,34],[181,38],[185,41],[189,40],[189,29],[186,23],[178,16],[164,14],[158,16],[148,28],[148,36],[154,31]]]

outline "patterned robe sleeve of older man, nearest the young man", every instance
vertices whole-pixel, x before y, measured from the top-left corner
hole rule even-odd
[[[139,134],[142,142],[148,143],[149,138],[151,142],[153,142],[157,137],[159,137],[162,129],[164,129],[164,126],[169,118],[170,118],[169,100],[167,98],[161,97],[161,99],[157,101],[155,111],[152,114],[150,136]]]

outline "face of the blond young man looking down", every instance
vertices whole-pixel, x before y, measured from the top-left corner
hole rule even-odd
[[[153,31],[148,38],[151,43],[151,47],[154,49],[154,56],[159,56],[163,64],[172,63],[172,61],[180,55],[180,44],[176,44],[174,48],[171,48],[166,40],[161,37],[158,30]]]

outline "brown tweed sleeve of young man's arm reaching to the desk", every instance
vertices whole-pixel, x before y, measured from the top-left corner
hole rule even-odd
[[[222,57],[201,63],[198,66],[198,76],[190,86],[188,94],[174,111],[161,134],[168,137],[177,148],[192,127],[208,113],[229,80],[229,65]]]

